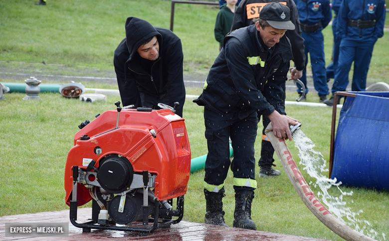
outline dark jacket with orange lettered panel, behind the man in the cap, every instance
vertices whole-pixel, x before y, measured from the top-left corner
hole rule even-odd
[[[305,66],[304,38],[301,36],[299,15],[293,0],[242,0],[235,10],[231,31],[254,24],[252,20],[259,17],[262,7],[275,1],[286,3],[290,9],[290,20],[296,27],[294,30],[287,30],[285,35],[292,45],[293,62],[297,70],[303,70]]]

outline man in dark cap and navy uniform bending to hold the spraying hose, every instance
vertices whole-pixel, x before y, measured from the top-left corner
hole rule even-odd
[[[224,38],[197,100],[204,107],[205,161],[204,195],[207,224],[226,226],[222,198],[230,166],[229,138],[234,150],[233,227],[256,230],[251,203],[256,189],[254,142],[257,112],[272,122],[273,133],[292,140],[289,124],[297,120],[284,111],[282,84],[287,80],[293,58],[286,30],[293,30],[290,10],[273,2],[263,7],[255,25],[243,27]]]

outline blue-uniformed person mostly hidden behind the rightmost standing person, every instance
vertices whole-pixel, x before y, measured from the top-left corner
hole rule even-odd
[[[338,12],[342,0],[332,0],[331,9],[334,11],[332,19],[332,34],[334,35],[334,46],[332,47],[332,62],[326,68],[327,82],[335,77],[335,70],[338,67],[339,45],[341,38],[336,34],[336,24],[338,23]]]

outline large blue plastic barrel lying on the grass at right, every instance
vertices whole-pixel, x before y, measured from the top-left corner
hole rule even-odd
[[[350,92],[341,109],[331,178],[389,191],[389,92]]]

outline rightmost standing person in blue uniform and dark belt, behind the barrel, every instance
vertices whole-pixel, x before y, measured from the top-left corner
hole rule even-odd
[[[339,8],[337,34],[341,38],[338,67],[331,92],[346,91],[354,61],[352,91],[365,91],[374,44],[384,36],[385,0],[343,0]],[[338,104],[340,99],[338,99]],[[324,102],[334,105],[334,96]]]

